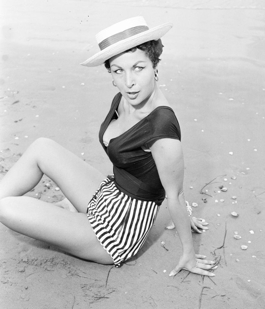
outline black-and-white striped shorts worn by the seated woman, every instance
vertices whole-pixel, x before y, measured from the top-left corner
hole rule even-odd
[[[114,265],[130,259],[143,246],[159,206],[122,193],[108,176],[88,203],[88,220]]]

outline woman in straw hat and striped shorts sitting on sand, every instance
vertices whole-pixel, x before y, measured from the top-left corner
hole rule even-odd
[[[82,63],[105,63],[120,91],[99,133],[114,175],[102,181],[105,177],[83,160],[52,140],[39,138],[1,181],[3,224],[83,259],[118,266],[143,245],[166,193],[183,248],[169,275],[187,269],[214,276],[208,271],[217,267],[212,267],[214,262],[194,253],[190,224],[199,231],[198,227],[207,229],[207,223],[189,220],[180,129],[156,84],[160,37],[171,27],[166,23],[149,29],[142,17],[126,19],[98,33],[101,51]],[[22,196],[43,174],[61,188],[67,198],[62,203],[65,209]],[[67,205],[77,212],[67,211]]]

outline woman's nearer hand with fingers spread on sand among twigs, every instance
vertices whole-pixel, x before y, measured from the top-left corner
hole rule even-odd
[[[195,254],[195,256],[192,257],[182,254],[177,266],[169,273],[169,276],[175,276],[182,269],[185,269],[191,273],[214,277],[215,274],[208,270],[216,269],[218,266],[214,266],[214,261],[204,260],[205,258],[206,256],[200,254]]]

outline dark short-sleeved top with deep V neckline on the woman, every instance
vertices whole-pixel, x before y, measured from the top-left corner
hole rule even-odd
[[[141,146],[160,138],[181,140],[177,118],[168,106],[158,106],[130,129],[112,138],[106,147],[103,134],[109,123],[117,119],[118,106],[122,94],[115,95],[109,113],[100,126],[99,140],[113,163],[114,183],[130,197],[155,201],[161,205],[165,199],[165,190],[161,184],[151,151]]]

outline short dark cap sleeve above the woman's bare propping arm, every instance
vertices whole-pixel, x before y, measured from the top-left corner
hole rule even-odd
[[[170,107],[157,108],[148,118],[150,136],[148,142],[160,138],[181,140],[181,132],[177,117]]]

